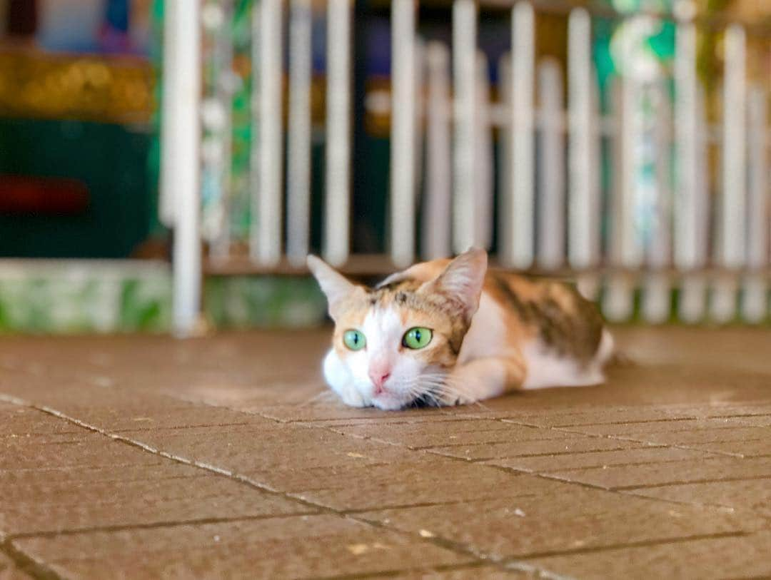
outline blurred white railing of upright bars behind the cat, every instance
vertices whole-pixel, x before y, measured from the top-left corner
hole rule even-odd
[[[191,32],[194,17],[185,15],[186,26],[181,22],[180,6],[188,2],[169,4],[162,207],[178,231],[176,320],[184,334],[200,295],[197,166],[189,142],[197,103],[183,94],[196,80],[189,59],[199,53],[199,41]],[[286,7],[281,0],[261,0],[254,9],[255,219],[247,241],[251,263],[261,271],[278,267],[284,258],[300,267],[310,250],[311,2],[292,0]],[[490,101],[486,57],[477,49],[477,9],[473,0],[453,2],[450,52],[446,45],[420,41],[416,2],[392,2],[387,228],[392,267],[472,244],[490,247],[497,226],[497,263],[570,272],[584,293],[601,298],[611,320],[633,315],[638,292],[641,317],[649,322],[673,315],[685,322],[767,320],[769,82],[766,76],[765,84],[751,85],[746,78],[742,25],[726,28],[721,126],[713,126],[706,121],[696,74],[697,25],[685,9],[676,21],[673,106],[664,72],[644,78],[626,74],[611,91],[611,111],[605,113],[598,103],[587,10],[574,8],[568,15],[566,103],[560,64],[536,58],[537,11],[528,2],[511,9],[513,48],[497,63],[500,99]],[[284,18],[289,31],[285,214]],[[351,28],[352,2],[328,0],[332,42],[327,47],[322,255],[336,266],[355,257],[349,243]],[[643,102],[655,106],[657,114],[641,115]],[[719,153],[717,171],[708,163],[710,149]],[[611,166],[607,187],[603,163]],[[651,169],[645,182],[639,179],[641,166]],[[227,251],[213,252],[212,259],[227,260]],[[676,313],[670,311],[673,290],[679,295]]]

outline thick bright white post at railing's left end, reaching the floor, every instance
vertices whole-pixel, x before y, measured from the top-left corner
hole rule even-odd
[[[186,337],[200,310],[200,4],[167,0],[164,33],[169,118],[163,125],[161,183],[174,223],[173,328]]]

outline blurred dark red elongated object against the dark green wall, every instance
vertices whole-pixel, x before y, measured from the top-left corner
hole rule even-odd
[[[0,213],[71,216],[88,206],[89,189],[77,179],[0,176]]]

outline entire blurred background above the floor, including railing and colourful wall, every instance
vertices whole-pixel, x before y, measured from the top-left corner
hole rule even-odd
[[[0,0],[0,330],[305,326],[470,245],[767,324],[767,0]]]

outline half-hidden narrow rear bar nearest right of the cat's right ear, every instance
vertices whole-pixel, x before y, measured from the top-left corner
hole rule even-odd
[[[510,263],[511,246],[511,55],[506,53],[498,61],[498,95],[501,116],[498,142],[498,255],[503,263]],[[508,256],[508,257],[507,257]]]

